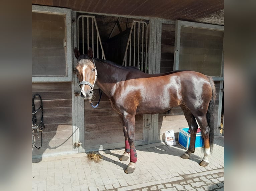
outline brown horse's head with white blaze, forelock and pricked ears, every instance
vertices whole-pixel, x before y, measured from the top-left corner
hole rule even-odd
[[[81,90],[81,97],[84,99],[91,99],[93,96],[93,88],[97,80],[97,70],[93,61],[93,50],[91,47],[88,54],[80,55],[77,47],[74,50],[77,58],[77,77],[79,80],[78,86]]]

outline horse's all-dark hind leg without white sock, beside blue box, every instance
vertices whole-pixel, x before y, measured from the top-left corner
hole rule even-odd
[[[189,130],[190,130],[190,143],[188,146],[188,150],[180,157],[183,159],[189,159],[190,154],[195,152],[195,143],[196,143],[196,134],[197,134],[198,124],[195,116],[190,112],[190,110],[186,106],[180,105],[180,107],[184,112]]]

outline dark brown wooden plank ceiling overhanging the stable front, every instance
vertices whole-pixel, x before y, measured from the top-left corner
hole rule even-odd
[[[32,4],[224,25],[224,0],[32,0]]]

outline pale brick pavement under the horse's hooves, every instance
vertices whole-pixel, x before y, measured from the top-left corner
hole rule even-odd
[[[204,154],[196,149],[188,160],[179,144],[136,146],[138,161],[133,174],[125,174],[129,161],[119,161],[124,149],[100,151],[99,163],[86,153],[32,160],[32,190],[224,190],[224,138],[215,138],[207,167],[199,166]]]

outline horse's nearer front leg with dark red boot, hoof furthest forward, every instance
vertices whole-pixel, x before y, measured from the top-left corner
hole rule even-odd
[[[128,164],[127,168],[125,169],[125,173],[131,174],[135,170],[135,163],[137,162],[137,153],[134,146],[134,140],[135,140],[135,113],[128,114],[127,112],[124,112],[123,115],[123,121],[126,126],[127,130],[127,137],[128,142],[130,145],[130,163]]]

